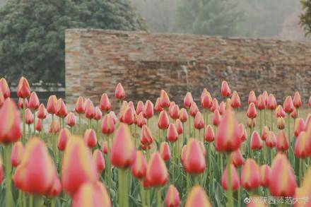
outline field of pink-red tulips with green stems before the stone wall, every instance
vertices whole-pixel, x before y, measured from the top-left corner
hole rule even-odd
[[[70,111],[1,78],[0,206],[311,206],[311,97],[206,88],[132,102],[118,83]]]

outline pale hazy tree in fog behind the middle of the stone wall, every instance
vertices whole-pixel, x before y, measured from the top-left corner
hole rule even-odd
[[[200,35],[236,36],[241,13],[234,0],[181,0],[177,27]]]

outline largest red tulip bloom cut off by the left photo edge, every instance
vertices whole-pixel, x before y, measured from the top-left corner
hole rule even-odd
[[[0,143],[9,144],[16,142],[22,136],[20,112],[15,102],[10,98],[4,101],[0,108]]]

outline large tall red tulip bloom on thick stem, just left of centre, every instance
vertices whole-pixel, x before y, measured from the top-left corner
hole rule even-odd
[[[135,159],[135,146],[127,124],[120,124],[112,142],[111,162],[119,168],[127,168]]]

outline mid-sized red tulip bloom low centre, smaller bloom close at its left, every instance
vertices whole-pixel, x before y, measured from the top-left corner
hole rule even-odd
[[[153,153],[148,162],[146,182],[149,187],[160,187],[168,183],[168,169],[160,153]]]

